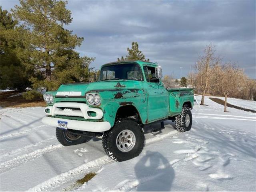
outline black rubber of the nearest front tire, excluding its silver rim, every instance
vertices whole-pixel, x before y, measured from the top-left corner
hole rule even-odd
[[[116,139],[120,132],[130,130],[134,133],[136,142],[134,147],[128,152],[122,152],[118,149]],[[116,121],[114,127],[103,133],[102,146],[106,154],[117,162],[126,161],[138,156],[145,146],[145,136],[142,128],[131,118],[122,118]]]

